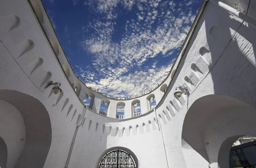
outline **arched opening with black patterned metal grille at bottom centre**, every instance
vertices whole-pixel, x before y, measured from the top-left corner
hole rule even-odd
[[[128,148],[109,148],[99,156],[96,168],[138,168],[137,156]]]

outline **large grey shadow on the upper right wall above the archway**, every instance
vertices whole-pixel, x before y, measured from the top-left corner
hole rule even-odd
[[[228,5],[233,6],[231,3]],[[221,8],[216,4],[211,5]],[[246,14],[248,6],[242,6]],[[214,15],[205,20],[209,55],[212,59],[209,68],[212,68],[210,74],[214,92],[256,106],[256,29],[244,21],[235,20],[234,16],[224,9],[220,10],[221,20],[215,22],[215,25]],[[231,31],[236,33],[231,34]]]

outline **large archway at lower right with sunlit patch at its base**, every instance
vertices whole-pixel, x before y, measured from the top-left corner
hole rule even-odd
[[[236,98],[220,95],[198,98],[183,122],[182,149],[186,162],[229,167],[230,149],[236,139],[256,136],[255,118],[256,108]]]

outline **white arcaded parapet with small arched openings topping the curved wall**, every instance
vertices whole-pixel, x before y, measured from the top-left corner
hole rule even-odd
[[[77,96],[79,97],[80,101],[83,102],[84,98],[86,96],[87,93],[91,93],[94,96],[94,99],[92,99],[92,107],[91,110],[93,110],[96,113],[99,113],[100,110],[100,105],[101,105],[101,101],[103,99],[107,99],[110,103],[109,103],[109,107],[108,107],[108,117],[114,118],[116,119],[116,104],[118,102],[125,102],[125,119],[129,119],[131,117],[134,116],[134,113],[132,111],[132,104],[131,102],[134,99],[138,99],[140,100],[140,107],[141,107],[141,114],[147,113],[150,108],[147,105],[147,96],[149,94],[154,94],[155,99],[156,99],[156,103],[158,104],[161,100],[161,98],[164,95],[164,92],[160,90],[161,86],[168,85],[169,82],[171,81],[171,72],[169,73],[168,77],[163,81],[162,84],[160,84],[157,88],[155,88],[154,90],[152,90],[150,93],[147,93],[143,96],[139,96],[136,98],[132,98],[132,99],[115,99],[115,98],[110,98],[107,96],[104,96],[94,90],[90,90],[88,87],[85,86],[85,84],[83,82],[81,82],[79,80],[79,78],[76,76],[76,74],[73,72],[73,68],[70,66],[65,53],[61,47],[61,44],[58,41],[57,36],[55,35],[55,31],[51,25],[51,22],[47,16],[46,11],[44,10],[44,6],[41,3],[41,0],[37,0],[39,6],[41,7],[41,11],[43,13],[44,16],[44,23],[42,23],[42,28],[44,29],[44,32],[47,36],[47,38],[49,39],[49,43],[51,43],[52,45],[52,49],[55,52],[55,56],[58,57],[58,61],[60,62],[60,64],[62,65],[62,68],[66,74],[66,77],[68,78],[68,80],[70,81],[70,84],[74,87],[78,86],[78,90],[76,91]],[[52,42],[54,41],[54,42]],[[58,50],[58,54],[56,54],[56,51]],[[177,65],[175,65],[177,67]],[[174,70],[174,67],[172,67],[172,70]],[[172,71],[171,70],[171,71]]]

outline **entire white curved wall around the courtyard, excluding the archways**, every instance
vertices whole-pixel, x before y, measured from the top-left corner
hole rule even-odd
[[[43,9],[40,1],[38,4]],[[250,3],[252,4],[255,3]],[[170,82],[166,94],[162,95],[163,98],[157,98],[157,91],[152,92],[155,92],[158,101],[156,109],[131,119],[128,118],[132,113],[128,113],[129,116],[124,120],[105,117],[88,108],[84,113],[81,100],[88,92],[95,94],[97,103],[102,99],[110,101],[108,116],[113,118],[113,111],[116,111],[119,102],[124,102],[131,112],[131,104],[135,98],[106,98],[84,88],[71,69],[68,81],[67,69],[63,69],[61,65],[69,64],[45,11],[42,13],[43,27],[26,0],[15,3],[13,0],[1,1],[0,25],[5,26],[0,26],[0,88],[32,96],[44,105],[52,130],[51,136],[45,134],[51,142],[45,168],[94,168],[99,163],[99,156],[114,147],[130,149],[137,156],[140,168],[208,167],[216,162],[218,151],[215,150],[212,158],[207,159],[193,146],[205,144],[205,139],[198,136],[198,144],[193,144],[186,136],[190,135],[190,139],[193,139],[194,134],[189,131],[185,133],[186,136],[182,134],[188,109],[198,98],[211,94],[230,96],[256,107],[256,86],[252,78],[256,67],[253,51],[255,29],[211,2],[199,11],[202,13],[200,20],[199,17],[195,19],[195,26],[192,26],[191,34],[185,41],[186,47],[181,49],[173,66],[176,73],[173,73],[171,82],[165,82]],[[49,38],[58,44],[58,57]],[[55,95],[52,92],[53,86],[45,88],[50,81],[61,82],[63,92]],[[81,90],[76,93],[72,84]],[[179,86],[188,88],[189,98],[185,92],[180,98],[174,96],[175,87]],[[161,86],[157,90],[160,88]],[[136,99],[146,104],[146,98],[150,94]],[[96,103],[93,107],[96,111],[99,109]],[[147,109],[148,106],[143,107]],[[198,115],[192,115],[192,120],[197,119],[195,121],[200,123],[204,119],[198,118]],[[203,153],[207,153],[204,148]]]

